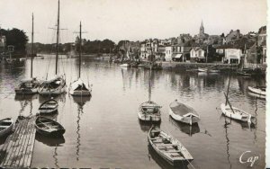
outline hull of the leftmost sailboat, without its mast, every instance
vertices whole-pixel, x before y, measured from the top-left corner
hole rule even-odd
[[[34,94],[38,93],[40,82],[35,78],[23,79],[15,88],[16,94]]]

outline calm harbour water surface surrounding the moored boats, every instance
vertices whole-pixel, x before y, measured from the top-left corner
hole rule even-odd
[[[64,56],[59,60],[59,71],[66,74],[69,86],[76,80],[78,61]],[[0,67],[1,118],[35,114],[47,99],[38,94],[15,96],[14,87],[30,76],[30,64],[28,59],[24,67]],[[39,78],[53,75],[54,68],[53,58],[33,61],[33,75]],[[138,120],[139,104],[148,101],[148,79],[152,101],[162,106],[160,128],[178,138],[194,158],[188,168],[248,168],[239,163],[247,150],[260,156],[253,168],[265,167],[266,100],[247,92],[248,85],[257,84],[253,79],[232,76],[230,81],[230,102],[257,115],[256,125],[248,129],[246,123],[221,116],[227,75],[153,71],[149,78],[148,70],[84,59],[82,78],[93,84],[92,98],[73,98],[68,93],[56,98],[58,115],[52,118],[66,133],[59,139],[37,134],[32,167],[172,168],[148,147],[150,124]],[[169,117],[168,105],[175,99],[201,115],[198,125],[190,128]],[[3,144],[1,139],[0,147]]]

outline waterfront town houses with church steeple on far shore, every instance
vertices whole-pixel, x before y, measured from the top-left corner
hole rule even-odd
[[[266,26],[246,35],[231,30],[225,36],[205,33],[201,23],[199,33],[193,37],[180,34],[166,40],[143,40],[139,51],[142,60],[155,54],[161,61],[266,64]]]

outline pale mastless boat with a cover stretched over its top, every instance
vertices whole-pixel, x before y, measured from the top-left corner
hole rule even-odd
[[[169,115],[174,119],[190,125],[200,120],[199,114],[188,105],[182,102],[171,102],[169,105]]]

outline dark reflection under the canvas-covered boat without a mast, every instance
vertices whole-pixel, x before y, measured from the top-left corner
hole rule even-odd
[[[180,129],[182,132],[184,132],[185,134],[187,134],[190,137],[192,137],[193,134],[200,133],[200,127],[199,127],[199,124],[197,122],[193,123],[193,125],[189,125],[189,124],[186,124],[183,122],[178,122],[170,116],[169,116],[169,121],[177,129]]]

